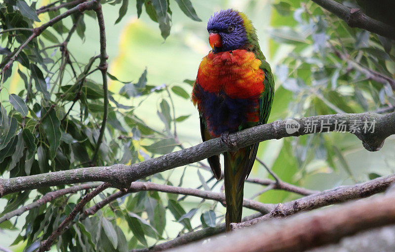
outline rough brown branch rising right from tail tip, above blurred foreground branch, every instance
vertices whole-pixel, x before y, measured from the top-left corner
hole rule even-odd
[[[276,209],[274,209],[271,213],[267,215],[251,221],[232,223],[231,227],[233,230],[236,230],[239,228],[254,225],[258,222],[265,221],[270,218],[289,216],[302,211],[312,210],[335,203],[341,203],[347,200],[364,198],[375,193],[384,191],[391,185],[391,183],[394,182],[395,175],[390,175],[387,177],[377,178],[353,186],[343,186],[335,189],[325,190],[317,194],[303,197],[284,204],[278,204]]]

